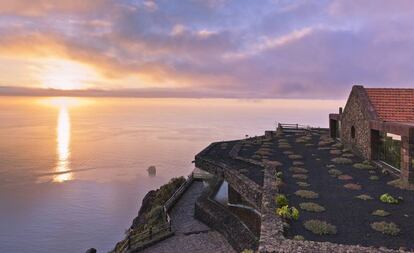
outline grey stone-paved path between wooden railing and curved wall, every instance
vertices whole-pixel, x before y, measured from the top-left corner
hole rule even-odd
[[[175,235],[142,252],[235,252],[226,239],[194,218],[194,203],[203,191],[203,183],[194,181],[171,211]]]

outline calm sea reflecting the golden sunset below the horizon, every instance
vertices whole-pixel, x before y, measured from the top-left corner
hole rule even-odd
[[[276,121],[327,127],[343,104],[0,97],[0,252],[107,252],[146,192],[189,174],[209,143]]]

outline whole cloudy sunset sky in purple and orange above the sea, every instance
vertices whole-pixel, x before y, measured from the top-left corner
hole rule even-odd
[[[413,59],[412,0],[0,1],[0,93],[343,98]]]

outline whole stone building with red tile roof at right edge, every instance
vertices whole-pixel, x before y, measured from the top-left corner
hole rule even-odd
[[[344,110],[329,114],[332,138],[414,183],[414,89],[356,85]]]

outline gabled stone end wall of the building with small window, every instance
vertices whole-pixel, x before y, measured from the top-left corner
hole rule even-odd
[[[341,115],[341,141],[345,147],[352,149],[365,159],[371,159],[370,116],[366,113],[364,89],[352,89],[348,102]],[[352,137],[352,127],[355,136]]]

